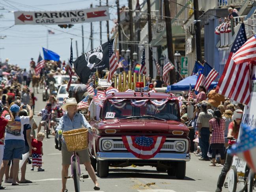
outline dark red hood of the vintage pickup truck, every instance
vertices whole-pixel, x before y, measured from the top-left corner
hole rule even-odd
[[[105,129],[116,129],[116,134],[120,133],[162,133],[172,134],[173,130],[181,130],[185,135],[189,129],[183,123],[178,121],[162,121],[152,119],[108,119],[99,123],[98,129],[105,133]]]

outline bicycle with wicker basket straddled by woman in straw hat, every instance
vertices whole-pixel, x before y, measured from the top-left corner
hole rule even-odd
[[[87,179],[88,175],[82,175],[80,169],[80,161],[77,155],[77,151],[84,150],[88,148],[88,130],[87,129],[74,129],[65,131],[62,133],[64,140],[67,145],[68,151],[73,151],[71,156],[71,175],[65,177],[65,179],[73,178],[75,192],[80,192],[80,178]]]

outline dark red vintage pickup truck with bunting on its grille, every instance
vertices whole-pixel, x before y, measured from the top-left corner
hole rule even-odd
[[[183,179],[190,160],[189,129],[180,122],[179,101],[167,93],[110,93],[99,121],[91,120],[89,153],[99,177],[109,166],[153,166]],[[97,164],[97,166],[96,166]]]

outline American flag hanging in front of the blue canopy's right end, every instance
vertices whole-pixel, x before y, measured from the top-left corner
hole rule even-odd
[[[204,63],[203,73],[201,73],[196,81],[195,90],[199,91],[199,86],[209,88],[211,82],[218,76],[218,72],[213,69],[208,63]]]

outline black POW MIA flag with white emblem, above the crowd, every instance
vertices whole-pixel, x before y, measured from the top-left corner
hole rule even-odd
[[[113,42],[114,39],[111,39],[110,43]],[[108,42],[82,54],[73,64],[82,83],[86,84],[92,72],[109,67]]]

